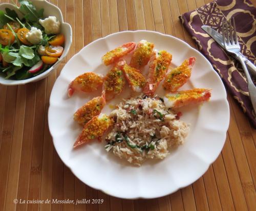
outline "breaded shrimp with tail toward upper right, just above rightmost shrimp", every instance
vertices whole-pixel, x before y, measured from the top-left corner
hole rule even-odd
[[[172,69],[164,79],[163,88],[167,91],[177,91],[191,76],[191,69],[195,64],[196,58],[186,59],[180,66]]]

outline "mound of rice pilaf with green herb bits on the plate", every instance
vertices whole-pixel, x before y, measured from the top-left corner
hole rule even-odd
[[[165,158],[170,148],[183,144],[189,131],[157,96],[124,100],[110,116],[115,126],[105,138],[106,151],[137,166],[146,159]]]

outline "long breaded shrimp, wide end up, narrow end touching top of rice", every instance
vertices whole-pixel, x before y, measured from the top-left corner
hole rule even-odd
[[[166,51],[154,50],[150,58],[150,71],[143,92],[146,95],[153,95],[172,61],[172,54]]]

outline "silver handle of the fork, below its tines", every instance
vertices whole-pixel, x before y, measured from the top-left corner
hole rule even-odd
[[[255,85],[253,84],[253,82],[251,80],[251,77],[250,77],[250,74],[249,74],[248,69],[246,67],[243,56],[239,55],[238,59],[241,62],[242,67],[244,69],[244,73],[245,73],[246,80],[247,80],[247,83],[248,83],[248,91],[249,91],[249,96],[250,96],[250,99],[251,99],[252,107],[253,107],[254,111],[256,112],[256,87],[255,87]]]

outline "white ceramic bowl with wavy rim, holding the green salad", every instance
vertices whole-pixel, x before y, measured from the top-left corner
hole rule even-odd
[[[54,71],[54,69],[56,69],[58,67],[58,65],[60,64],[60,61],[63,58],[65,58],[69,52],[69,49],[70,49],[70,46],[72,43],[72,28],[67,22],[63,21],[63,16],[62,16],[60,9],[45,0],[44,1],[34,0],[33,5],[37,9],[41,9],[41,8],[45,9],[44,17],[56,16],[57,20],[59,20],[61,22],[61,33],[63,33],[65,35],[64,51],[63,51],[62,55],[60,56],[59,60],[54,65],[52,65],[49,69],[47,69],[47,71],[45,71],[44,73],[42,73],[38,76],[35,76],[33,78],[25,79],[25,80],[10,80],[10,79],[4,79],[3,76],[0,76],[0,84],[8,85],[8,86],[20,85],[20,84],[26,84],[26,83],[35,82],[35,81],[44,79],[52,71]],[[12,10],[15,10],[19,17],[23,16],[12,4],[4,3],[4,4],[0,5],[0,10],[5,11],[5,8],[10,8]]]

